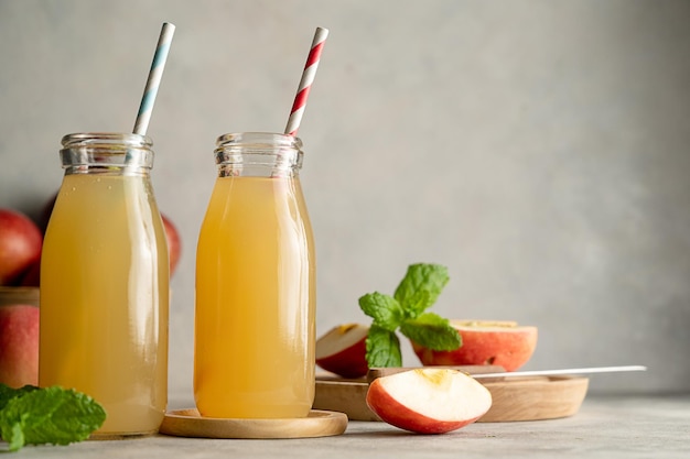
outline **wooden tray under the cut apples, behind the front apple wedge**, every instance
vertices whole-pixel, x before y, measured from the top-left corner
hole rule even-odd
[[[370,379],[369,379],[370,380]],[[369,409],[369,380],[316,378],[314,409],[345,413],[351,420],[380,420]],[[492,393],[492,407],[479,423],[554,419],[572,416],[586,395],[583,376],[529,376],[477,380]]]

